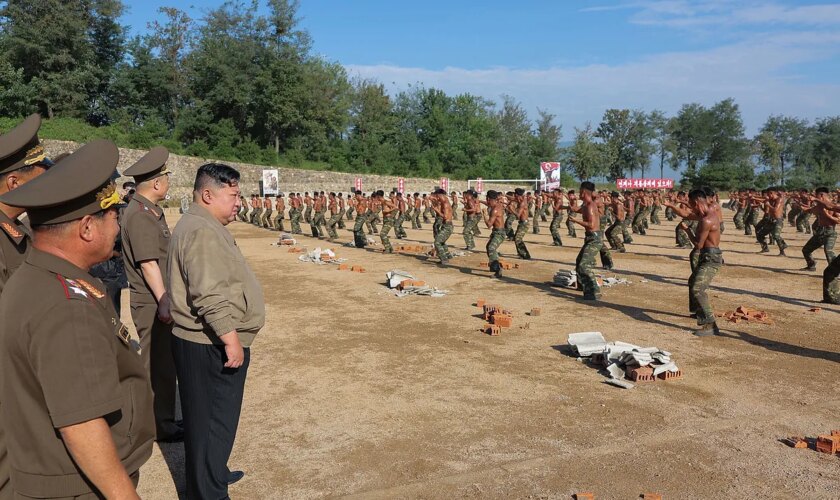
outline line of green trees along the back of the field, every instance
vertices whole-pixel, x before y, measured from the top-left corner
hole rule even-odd
[[[564,179],[682,171],[719,189],[840,180],[840,117],[771,116],[754,138],[737,104],[609,109],[563,147],[556,116],[514,98],[394,95],[315,55],[296,0],[232,1],[201,19],[161,8],[129,37],[121,0],[0,2],[0,115],[31,112],[122,146],[265,165],[419,177],[528,179],[561,161]],[[6,125],[10,120],[0,122]],[[71,137],[56,137],[71,138]],[[672,175],[672,174],[669,174]]]

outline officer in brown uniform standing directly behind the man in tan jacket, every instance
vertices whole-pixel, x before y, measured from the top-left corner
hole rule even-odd
[[[134,177],[137,191],[122,216],[122,245],[131,317],[140,336],[141,356],[155,395],[158,441],[181,441],[184,430],[175,420],[175,361],[172,358],[172,316],[166,291],[169,226],[158,203],[169,191],[169,151],[152,148],[123,175]]]

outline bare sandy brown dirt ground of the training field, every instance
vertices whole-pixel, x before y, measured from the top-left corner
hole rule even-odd
[[[247,475],[232,498],[840,498],[840,456],[780,442],[840,428],[840,307],[816,304],[824,257],[819,272],[798,271],[807,236],[792,228],[789,257],[778,257],[727,222],[713,306],[761,309],[774,324],[721,323],[725,336],[703,339],[690,333],[688,251],[664,220],[613,254],[608,275],[632,284],[595,304],[548,285],[574,268],[582,240],[564,228],[566,246],[553,247],[547,223],[528,235],[531,261],[503,244],[521,267],[502,280],[479,267],[483,252],[439,267],[299,239],[335,248],[359,274],[298,261],[271,246],[276,232],[229,228],[267,304],[230,459]],[[460,233],[458,221],[453,247]],[[431,241],[427,224],[405,243]],[[451,293],[395,297],[383,285],[394,268]],[[512,309],[513,327],[481,333],[477,298]],[[542,314],[526,315],[532,307]],[[569,333],[592,330],[671,351],[683,378],[604,384],[565,347]],[[182,445],[156,446],[141,495],[176,498],[183,484]]]

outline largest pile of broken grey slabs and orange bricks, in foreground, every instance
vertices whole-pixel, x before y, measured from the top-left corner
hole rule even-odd
[[[682,371],[671,360],[671,353],[657,347],[639,347],[627,342],[609,342],[601,332],[582,332],[569,335],[568,344],[577,352],[579,359],[588,358],[595,366],[604,368],[609,374],[608,384],[631,389],[633,384],[674,380],[682,377]]]

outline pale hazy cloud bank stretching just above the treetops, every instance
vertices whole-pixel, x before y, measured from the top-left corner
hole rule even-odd
[[[681,3],[673,2],[670,7],[675,10]],[[753,134],[771,114],[808,119],[838,114],[840,83],[809,83],[790,69],[819,64],[838,54],[840,32],[788,32],[617,65],[478,70],[351,65],[348,69],[376,78],[392,91],[419,82],[450,94],[469,92],[497,101],[502,94],[509,94],[534,114],[537,108],[556,114],[567,139],[573,127],[582,127],[587,121],[597,124],[604,110],[611,107],[662,109],[674,114],[682,104],[711,105],[728,97],[740,105],[747,132]]]

